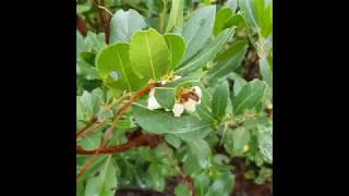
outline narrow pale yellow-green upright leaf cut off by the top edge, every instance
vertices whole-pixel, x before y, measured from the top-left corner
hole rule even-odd
[[[183,26],[183,4],[184,0],[172,0],[170,16],[168,19],[166,32],[182,32]]]

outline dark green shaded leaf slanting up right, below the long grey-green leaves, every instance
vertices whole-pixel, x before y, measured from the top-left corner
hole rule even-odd
[[[234,41],[226,51],[216,58],[217,64],[208,71],[208,81],[214,82],[218,78],[225,77],[241,66],[246,50],[246,41]]]

